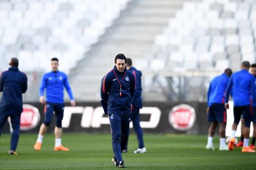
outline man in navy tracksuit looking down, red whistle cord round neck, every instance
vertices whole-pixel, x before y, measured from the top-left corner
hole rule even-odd
[[[107,114],[111,126],[112,163],[125,167],[122,150],[128,139],[131,119],[131,99],[134,96],[135,79],[131,71],[126,70],[126,57],[117,54],[114,68],[102,78],[101,98],[107,105]],[[104,105],[102,105],[104,107]]]

